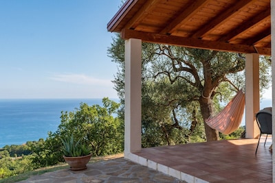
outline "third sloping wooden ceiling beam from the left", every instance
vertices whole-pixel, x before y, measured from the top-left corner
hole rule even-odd
[[[234,14],[236,14],[239,10],[246,8],[248,5],[254,3],[254,1],[258,1],[258,0],[253,0],[253,1],[240,0],[240,1],[238,1],[234,6],[232,6],[231,8],[228,8],[227,10],[225,10],[225,12],[215,16],[214,19],[212,19],[212,21],[210,21],[210,22],[206,23],[205,25],[203,25],[202,27],[200,27],[199,30],[197,32],[195,32],[195,34],[192,35],[192,37],[193,38],[203,37],[205,34],[210,32],[212,29],[219,27],[219,25],[221,25],[223,22],[227,21],[228,19],[231,19],[231,17],[234,16]]]

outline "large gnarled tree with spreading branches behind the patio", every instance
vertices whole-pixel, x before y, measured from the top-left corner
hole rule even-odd
[[[124,40],[117,35],[108,53],[113,62],[119,65],[113,82],[124,103]],[[264,68],[261,70],[263,89],[269,82],[269,73],[266,71],[270,62],[262,57],[261,66]],[[169,145],[175,129],[187,129],[185,134],[189,138],[203,125],[207,141],[218,140],[219,132],[210,128],[205,121],[221,110],[222,102],[228,102],[237,90],[243,88],[244,69],[245,60],[237,53],[143,42],[143,135],[148,127],[151,132],[155,127]],[[179,120],[180,112],[185,112],[188,117]],[[203,134],[197,135],[203,138]]]

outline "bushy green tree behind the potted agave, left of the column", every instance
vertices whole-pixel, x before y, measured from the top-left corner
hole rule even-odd
[[[74,134],[76,138],[84,138],[91,145],[94,156],[113,154],[122,151],[122,121],[113,117],[120,104],[108,98],[102,99],[103,107],[88,106],[80,103],[74,112],[63,112],[58,134]]]

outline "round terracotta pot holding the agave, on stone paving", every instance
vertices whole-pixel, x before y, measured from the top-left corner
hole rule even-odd
[[[79,156],[79,157],[67,157],[63,156],[67,164],[72,171],[85,170],[87,169],[86,164],[91,159],[91,154],[87,156]]]

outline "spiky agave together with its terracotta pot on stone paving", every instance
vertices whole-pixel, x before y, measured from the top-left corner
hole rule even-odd
[[[86,164],[91,159],[91,149],[81,142],[82,138],[78,141],[74,139],[74,135],[61,138],[63,143],[63,158],[67,162],[72,171],[87,169]]]

